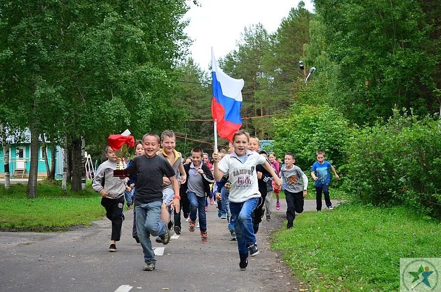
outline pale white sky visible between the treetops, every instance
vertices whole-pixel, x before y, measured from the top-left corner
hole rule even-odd
[[[193,40],[190,53],[201,69],[208,70],[211,62],[211,47],[216,59],[237,49],[245,27],[261,23],[268,32],[274,32],[282,19],[287,17],[299,0],[198,0],[201,7],[188,1],[190,10],[185,15],[190,24],[185,32]],[[305,7],[313,11],[310,0]]]

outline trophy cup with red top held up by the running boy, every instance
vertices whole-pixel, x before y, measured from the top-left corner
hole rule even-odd
[[[130,131],[127,129],[121,135],[110,135],[107,138],[110,148],[115,152],[118,158],[123,159],[129,148],[135,146],[135,139],[129,136]],[[124,169],[122,161],[117,162],[116,170],[113,170],[114,177],[127,177],[127,170]]]

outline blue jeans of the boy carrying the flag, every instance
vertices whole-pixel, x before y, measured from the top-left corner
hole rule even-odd
[[[256,209],[258,202],[259,198],[250,198],[241,203],[230,202],[231,218],[234,221],[234,231],[241,259],[248,257],[248,246],[256,243],[251,214]]]

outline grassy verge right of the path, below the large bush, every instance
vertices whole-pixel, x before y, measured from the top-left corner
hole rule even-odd
[[[399,291],[400,258],[439,257],[441,224],[404,207],[344,203],[301,214],[271,244],[310,291]]]

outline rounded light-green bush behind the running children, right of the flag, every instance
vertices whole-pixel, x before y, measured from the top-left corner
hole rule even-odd
[[[272,122],[277,157],[294,152],[296,165],[308,172],[316,161],[316,151],[321,149],[334,166],[344,164],[342,150],[349,135],[348,122],[336,109],[297,103]]]

